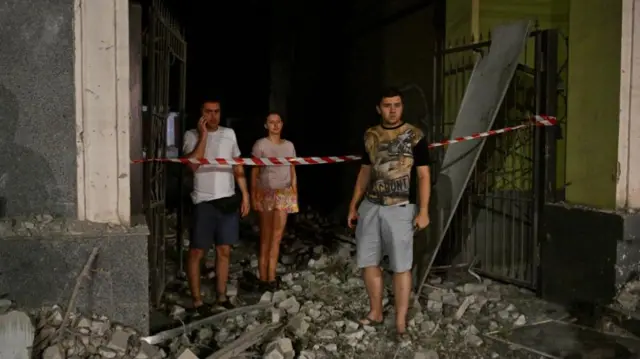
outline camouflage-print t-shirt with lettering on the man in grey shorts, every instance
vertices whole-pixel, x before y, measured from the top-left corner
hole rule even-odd
[[[427,142],[419,128],[401,123],[368,129],[362,156],[362,164],[372,167],[366,198],[383,206],[416,203],[416,167],[430,163]]]

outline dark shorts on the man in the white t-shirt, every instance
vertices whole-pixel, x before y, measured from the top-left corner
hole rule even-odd
[[[223,213],[211,202],[201,202],[193,210],[191,248],[209,250],[212,245],[234,245],[240,241],[240,212]]]

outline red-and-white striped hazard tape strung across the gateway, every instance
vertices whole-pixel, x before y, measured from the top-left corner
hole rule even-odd
[[[429,144],[429,148],[442,147],[463,141],[476,140],[478,138],[490,137],[506,132],[513,132],[531,126],[555,126],[557,120],[553,116],[532,116],[528,122],[521,125],[505,127],[498,130],[474,133],[469,136],[457,137],[446,141]],[[131,161],[131,163],[143,162],[173,162],[182,164],[197,165],[248,165],[248,166],[289,166],[289,165],[319,165],[326,163],[340,163],[347,161],[357,161],[360,156],[327,156],[327,157],[249,157],[249,158],[148,158]]]

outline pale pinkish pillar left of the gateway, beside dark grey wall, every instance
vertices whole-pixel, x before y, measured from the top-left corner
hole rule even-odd
[[[78,218],[128,224],[129,2],[74,9]]]

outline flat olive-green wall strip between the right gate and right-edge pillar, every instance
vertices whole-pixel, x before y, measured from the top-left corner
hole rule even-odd
[[[615,208],[621,0],[571,0],[567,200]]]

